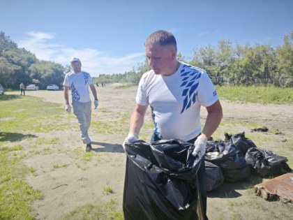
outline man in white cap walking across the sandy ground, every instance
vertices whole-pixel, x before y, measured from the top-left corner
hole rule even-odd
[[[93,79],[89,73],[82,71],[80,59],[73,57],[70,61],[73,72],[67,73],[63,82],[64,97],[66,102],[65,110],[70,112],[68,90],[70,88],[73,113],[80,124],[82,141],[86,144],[86,151],[91,151],[91,139],[89,138],[89,126],[91,125],[91,98],[89,97],[89,87],[93,93],[95,109],[98,108],[98,98]]]

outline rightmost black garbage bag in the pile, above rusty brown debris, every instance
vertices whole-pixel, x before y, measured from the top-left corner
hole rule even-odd
[[[292,171],[285,156],[278,156],[266,149],[250,148],[245,159],[253,167],[253,172],[261,177],[276,177]]]

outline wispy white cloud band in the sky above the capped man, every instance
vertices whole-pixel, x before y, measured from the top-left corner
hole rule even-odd
[[[20,47],[36,54],[38,59],[68,65],[70,57],[79,57],[84,71],[91,73],[92,76],[98,76],[100,73],[124,73],[130,71],[138,62],[144,61],[143,52],[126,54],[123,57],[112,57],[96,49],[77,50],[65,45],[50,44],[49,41],[55,37],[51,33],[31,31],[28,36],[17,43]]]

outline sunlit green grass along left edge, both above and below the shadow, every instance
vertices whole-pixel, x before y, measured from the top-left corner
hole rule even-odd
[[[36,132],[66,129],[62,119],[68,115],[59,104],[31,96],[6,94],[0,96],[0,105],[0,129],[3,131],[0,135],[0,219],[35,219],[31,214],[31,203],[43,195],[26,182],[25,175],[36,176],[37,170],[22,163],[21,160],[27,157],[22,152],[24,146],[7,145],[29,138],[33,140],[38,137]],[[34,145],[57,143],[58,138],[38,138]],[[43,148],[42,154],[50,153],[50,147]]]

